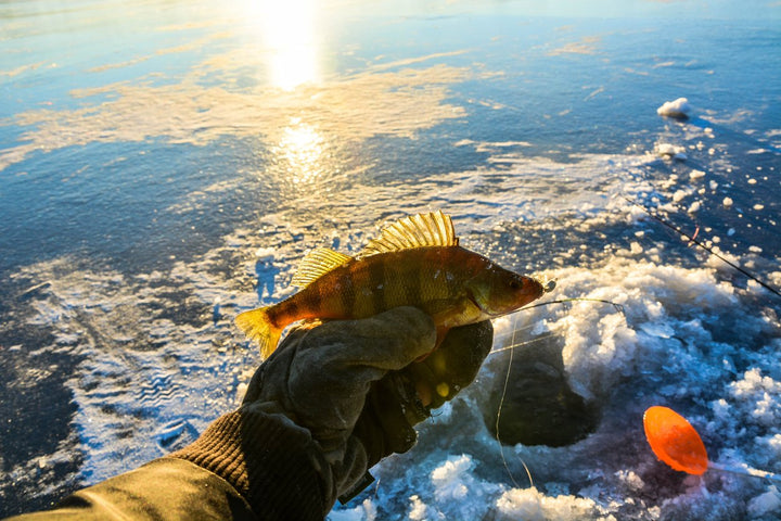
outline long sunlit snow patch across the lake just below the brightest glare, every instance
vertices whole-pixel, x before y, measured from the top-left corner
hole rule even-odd
[[[203,86],[199,81],[205,71],[215,66],[223,72],[253,64],[264,67],[264,60],[263,53],[255,50],[236,49],[196,64],[176,85],[120,81],[75,92],[78,98],[88,100],[112,92],[111,101],[94,107],[20,113],[20,120],[36,130],[27,134],[23,144],[0,150],[0,170],[23,161],[36,150],[95,141],[143,141],[149,136],[165,137],[171,143],[206,145],[225,136],[227,128],[235,136],[257,138],[263,135],[274,143],[286,137],[290,139],[291,132],[294,137],[300,136],[300,131],[311,136],[333,134],[347,140],[362,140],[375,135],[412,138],[439,122],[464,115],[462,106],[445,100],[450,84],[472,76],[468,68],[445,65],[393,71],[406,64],[399,62],[290,92],[273,86],[247,91],[225,85]],[[420,58],[418,62],[425,60]],[[406,92],[409,88],[419,89],[418,96],[409,96]],[[146,110],[140,112],[141,105]],[[332,117],[334,113],[340,117]],[[296,123],[302,118],[316,122],[317,132]],[[71,131],[60,131],[63,127]]]

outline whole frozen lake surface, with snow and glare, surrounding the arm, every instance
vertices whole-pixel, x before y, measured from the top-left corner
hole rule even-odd
[[[642,428],[665,405],[713,461],[781,472],[781,297],[642,209],[781,288],[781,8],[284,3],[0,4],[0,516],[192,441],[259,361],[239,312],[308,250],[443,209],[545,298],[614,305],[497,320],[333,521],[781,518]],[[502,446],[510,354],[542,345],[592,432]]]

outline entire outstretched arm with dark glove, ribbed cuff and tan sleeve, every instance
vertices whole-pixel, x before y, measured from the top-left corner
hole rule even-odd
[[[242,407],[195,442],[29,519],[320,521],[370,466],[414,444],[412,425],[431,408],[472,382],[492,329],[453,329],[431,353],[435,336],[411,307],[293,331]]]

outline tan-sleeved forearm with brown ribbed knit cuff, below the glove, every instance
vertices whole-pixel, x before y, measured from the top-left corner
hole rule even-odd
[[[334,494],[313,443],[281,416],[242,408],[170,456],[14,521],[322,520]]]

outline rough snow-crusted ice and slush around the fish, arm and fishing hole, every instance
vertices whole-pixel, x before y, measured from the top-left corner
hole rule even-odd
[[[444,207],[463,245],[494,247],[482,239],[490,230],[511,245],[494,255],[521,270],[524,252],[534,253],[524,249],[535,244],[513,238],[542,228],[518,226],[553,219],[555,233],[571,229],[584,238],[612,226],[627,228],[630,240],[623,247],[603,250],[599,241],[568,247],[553,266],[535,272],[558,281],[547,298],[613,304],[575,301],[495,322],[497,350],[558,339],[571,386],[600,408],[602,422],[568,447],[501,449],[481,411],[491,382],[503,381],[508,359],[490,355],[476,383],[421,427],[419,446],[377,466],[377,483],[337,507],[331,519],[778,516],[777,496],[761,483],[714,472],[681,481],[642,436],[644,408],[668,405],[701,430],[713,459],[781,471],[781,331],[773,309],[757,307],[751,287],[719,278],[722,263],[663,262],[646,215],[617,196],[653,193],[690,207],[699,194],[687,183],[699,182],[696,176],[650,182],[643,168],[658,160],[645,154],[592,154],[563,164],[526,157],[513,145],[461,145],[496,151],[489,160],[494,168],[432,174],[414,185],[389,182],[373,188],[372,198],[360,183],[334,200],[302,193],[294,204],[261,217],[255,230],[234,230],[222,246],[175,263],[167,272],[128,278],[65,260],[23,270],[17,277],[49,281],[31,300],[29,323],[51,327],[51,348],[82,359],[68,382],[79,432],[68,450],[82,455],[79,479],[95,482],[158,457],[235,407],[258,357],[234,335],[230,319],[290,294],[287,281],[308,249],[338,239],[341,251],[354,252],[374,236],[388,207],[399,215]],[[564,176],[576,180],[578,190],[568,191]],[[490,192],[470,195],[486,183]],[[361,214],[354,212],[357,206]],[[302,207],[333,217],[312,225]],[[221,268],[226,259],[236,272]]]

